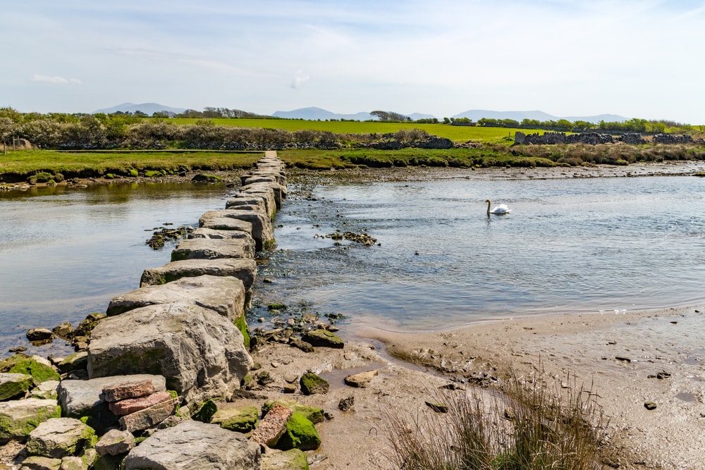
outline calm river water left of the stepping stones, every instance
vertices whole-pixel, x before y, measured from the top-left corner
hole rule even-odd
[[[192,183],[0,192],[0,354],[27,346],[29,328],[75,326],[135,290],[145,268],[170,260],[171,247],[145,245],[152,230],[197,226],[225,206],[226,192]],[[61,348],[55,343],[41,352]]]

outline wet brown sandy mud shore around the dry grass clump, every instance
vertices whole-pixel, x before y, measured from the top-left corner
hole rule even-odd
[[[322,407],[333,419],[318,425],[323,445],[309,455],[312,469],[389,469],[388,416],[417,419],[449,383],[480,377],[505,381],[511,369],[548,387],[586,388],[610,420],[623,447],[613,462],[624,469],[702,469],[705,462],[705,305],[627,314],[532,316],[477,323],[436,333],[357,331],[344,350],[305,353],[269,345],[255,354],[275,382],[269,397]],[[400,361],[395,358],[403,358]],[[540,370],[539,370],[540,369]],[[343,378],[377,371],[367,388]],[[326,395],[278,390],[306,371],[329,380]],[[656,378],[658,373],[668,378]],[[469,383],[470,382],[470,383]],[[494,383],[494,379],[486,381]],[[354,397],[348,412],[340,400]],[[645,402],[657,407],[647,410]],[[253,403],[254,404],[254,403]]]

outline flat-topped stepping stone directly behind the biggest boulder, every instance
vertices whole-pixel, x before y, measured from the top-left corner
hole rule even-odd
[[[211,309],[235,321],[245,314],[246,300],[243,281],[232,276],[198,276],[181,278],[163,285],[147,285],[110,301],[109,316],[147,305],[190,303]]]

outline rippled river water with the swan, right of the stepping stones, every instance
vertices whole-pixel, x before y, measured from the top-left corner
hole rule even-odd
[[[507,204],[486,216],[486,198]],[[705,299],[705,179],[319,185],[278,214],[264,302],[428,330]],[[380,246],[314,235],[366,230]]]

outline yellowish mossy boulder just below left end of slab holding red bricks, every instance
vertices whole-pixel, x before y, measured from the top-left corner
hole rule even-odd
[[[30,433],[27,454],[54,459],[75,455],[94,434],[90,426],[78,419],[51,418]]]

